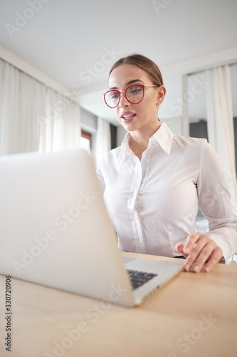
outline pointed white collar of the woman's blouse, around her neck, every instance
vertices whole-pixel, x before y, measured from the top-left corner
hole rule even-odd
[[[170,154],[173,137],[174,134],[168,128],[167,124],[165,124],[164,121],[161,121],[159,129],[157,129],[157,131],[149,139],[148,148],[153,146],[154,145],[153,143],[158,143],[167,154]],[[121,144],[122,149],[124,149],[125,153],[128,155],[133,154],[133,151],[130,149],[129,146],[130,138],[131,138],[131,134],[130,132],[128,132]]]

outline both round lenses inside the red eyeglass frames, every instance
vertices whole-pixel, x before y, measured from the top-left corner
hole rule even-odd
[[[143,98],[143,88],[142,86],[131,86],[125,91],[125,95],[128,101],[133,104],[139,103]],[[120,102],[120,93],[119,91],[108,91],[105,94],[105,101],[107,106],[115,108]]]

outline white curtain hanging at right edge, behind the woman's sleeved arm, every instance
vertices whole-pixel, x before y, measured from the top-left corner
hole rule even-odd
[[[233,106],[229,66],[206,71],[206,106],[209,143],[218,154],[226,174],[231,201],[237,206]]]

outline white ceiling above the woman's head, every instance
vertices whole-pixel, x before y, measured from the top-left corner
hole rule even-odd
[[[102,99],[117,59],[137,52],[162,70],[234,48],[236,14],[236,0],[0,0],[0,45],[68,89],[80,87],[73,99],[117,124]],[[170,93],[181,86],[175,74],[166,81]]]

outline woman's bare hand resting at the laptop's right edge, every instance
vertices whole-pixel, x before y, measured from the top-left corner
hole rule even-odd
[[[186,257],[184,270],[195,273],[199,273],[202,268],[206,272],[211,271],[223,257],[222,249],[208,234],[192,233],[186,243],[178,243],[176,249]]]

